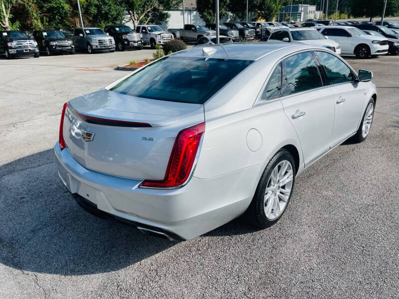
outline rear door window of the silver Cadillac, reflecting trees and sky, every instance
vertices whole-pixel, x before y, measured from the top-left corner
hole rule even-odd
[[[310,52],[288,57],[285,63],[285,80],[291,94],[322,87],[319,70]]]

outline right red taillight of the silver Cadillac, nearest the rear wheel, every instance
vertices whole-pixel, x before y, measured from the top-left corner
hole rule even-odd
[[[140,187],[171,188],[187,181],[196,159],[205,123],[179,132],[173,145],[165,178],[162,181],[144,180]]]

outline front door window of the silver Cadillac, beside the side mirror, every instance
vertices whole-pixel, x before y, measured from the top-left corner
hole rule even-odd
[[[315,53],[326,70],[328,85],[353,81],[351,69],[340,59],[326,52]]]

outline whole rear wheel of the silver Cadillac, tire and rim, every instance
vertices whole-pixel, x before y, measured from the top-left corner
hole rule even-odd
[[[244,215],[247,221],[261,228],[276,223],[288,205],[294,183],[294,158],[288,150],[280,149],[263,171]]]

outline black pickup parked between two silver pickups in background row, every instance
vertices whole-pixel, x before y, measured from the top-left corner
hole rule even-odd
[[[115,40],[116,49],[125,51],[125,49],[143,49],[143,35],[134,32],[129,26],[110,25],[104,28]]]

